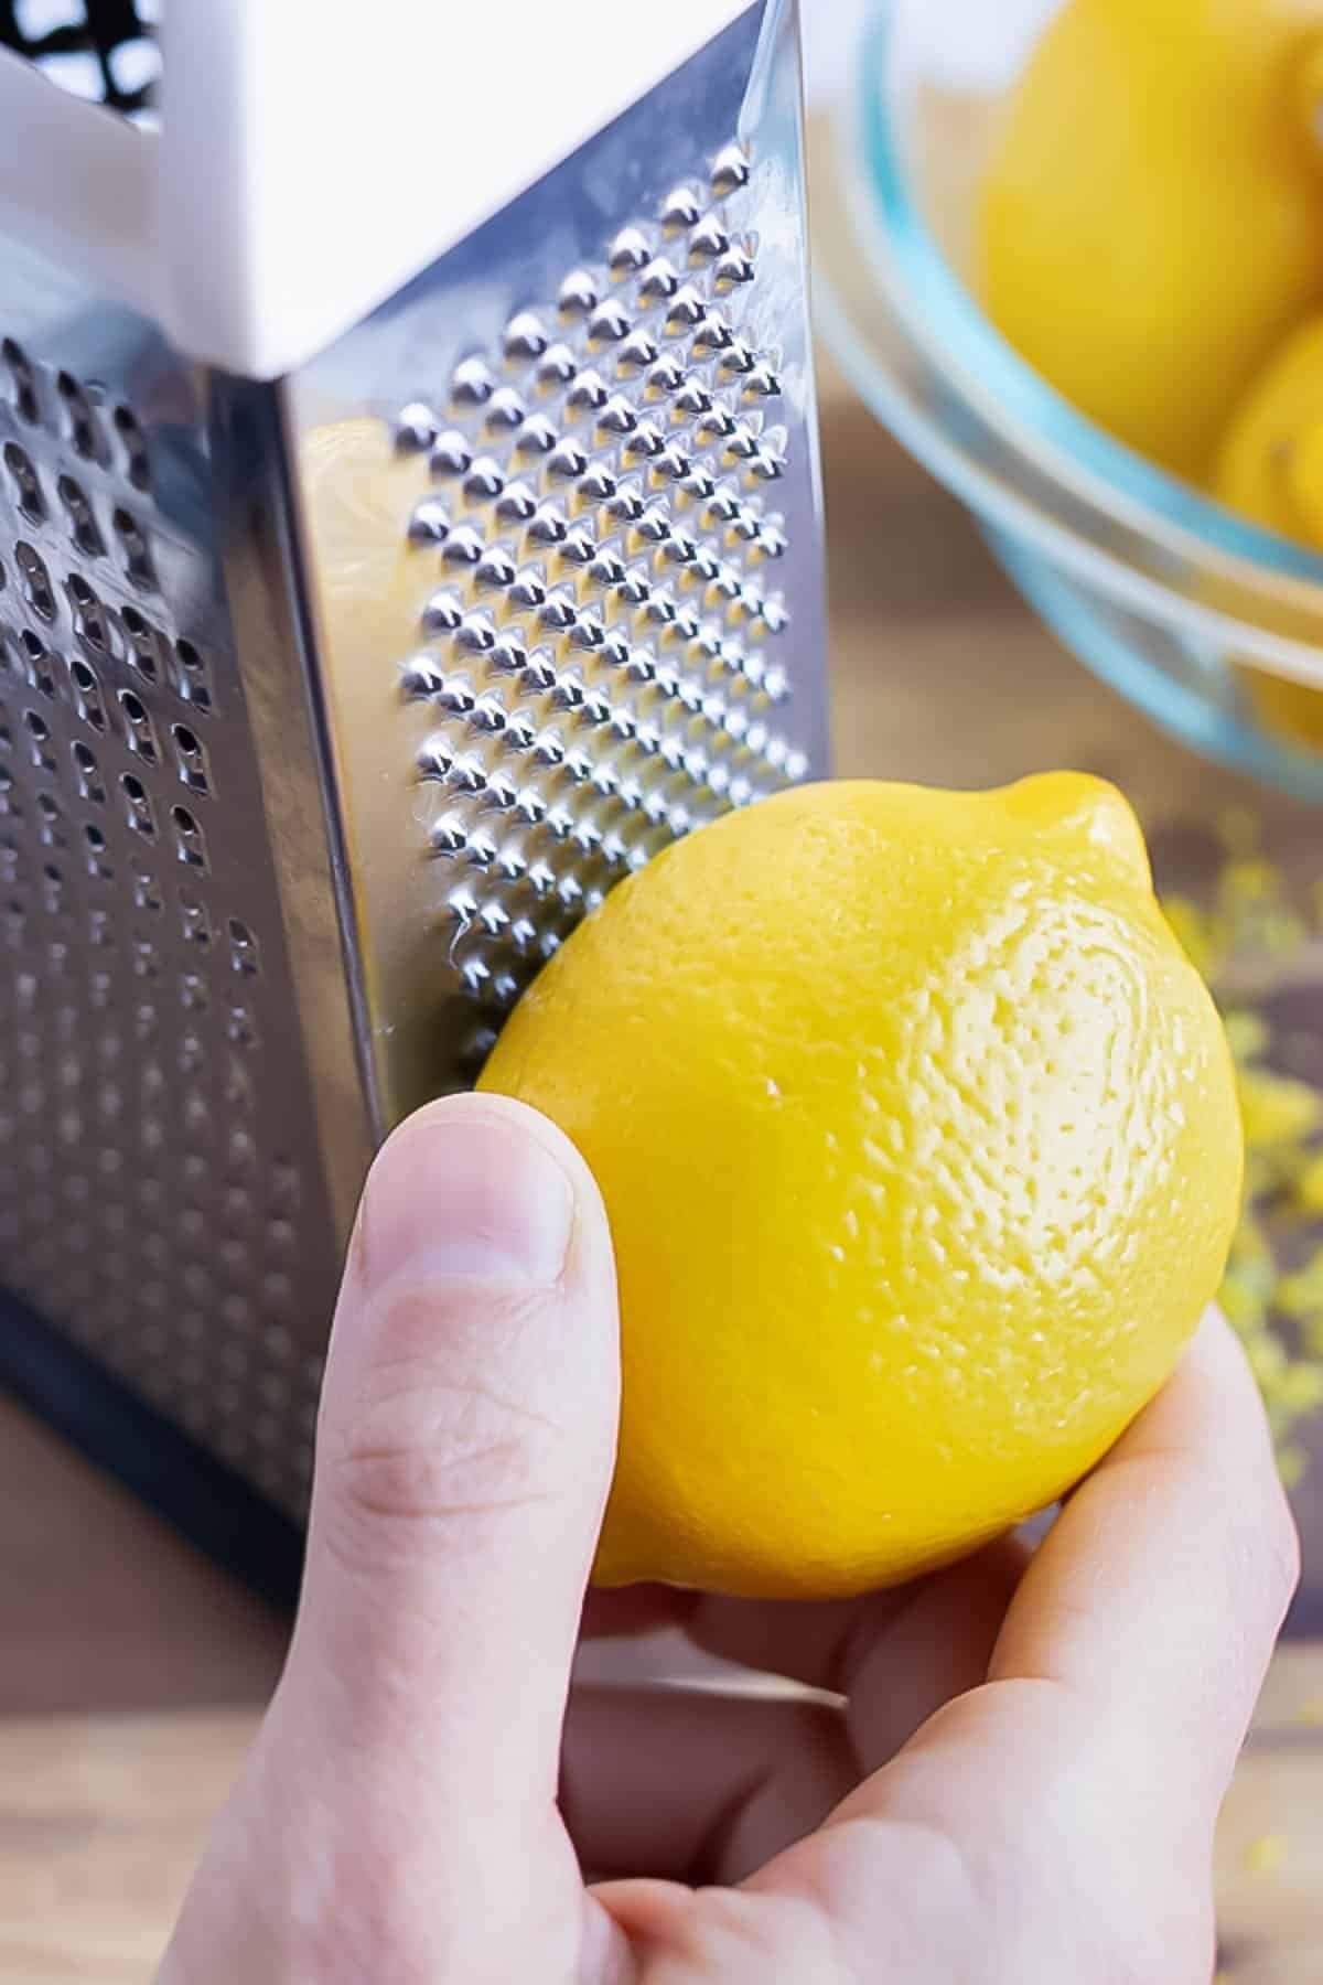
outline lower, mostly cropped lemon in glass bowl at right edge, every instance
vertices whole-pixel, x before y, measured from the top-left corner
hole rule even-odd
[[[1214,490],[1252,524],[1323,552],[1323,316],[1285,339],[1236,407]],[[1323,748],[1323,691],[1265,669],[1240,673],[1265,728]]]

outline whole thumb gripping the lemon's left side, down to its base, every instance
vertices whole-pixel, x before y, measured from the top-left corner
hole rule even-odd
[[[559,1739],[617,1405],[587,1167],[520,1104],[430,1106],[365,1191],[300,1618],[238,1794],[262,1808],[268,1894],[276,1876],[303,1923],[333,1918],[341,1955],[363,1925],[373,1947],[345,1975],[395,1951],[411,1977],[393,1939],[417,1933],[428,1977],[450,1975],[432,1969],[446,1949],[454,1975],[486,1977],[496,1921],[514,1933],[579,1894]]]

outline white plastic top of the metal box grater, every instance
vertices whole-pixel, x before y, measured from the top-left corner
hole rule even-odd
[[[159,131],[0,62],[0,216],[188,357],[278,377],[748,4],[169,0]]]

